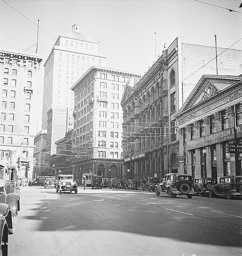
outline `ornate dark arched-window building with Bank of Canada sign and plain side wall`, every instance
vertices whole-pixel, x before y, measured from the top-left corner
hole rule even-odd
[[[121,102],[123,179],[142,180],[183,172],[177,163],[175,116],[199,78],[205,73],[216,74],[215,52],[215,47],[185,44],[176,38],[135,87],[125,88]],[[219,73],[241,73],[241,50],[218,48],[217,52],[221,53]]]

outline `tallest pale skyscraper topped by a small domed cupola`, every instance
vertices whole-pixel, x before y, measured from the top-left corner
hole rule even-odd
[[[89,40],[73,25],[60,35],[44,64],[42,129],[47,130],[47,152],[56,153],[55,141],[73,128],[74,94],[71,86],[91,66],[105,65],[99,42]],[[49,119],[48,119],[49,118]]]

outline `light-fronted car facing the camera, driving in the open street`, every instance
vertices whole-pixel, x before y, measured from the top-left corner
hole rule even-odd
[[[62,192],[72,192],[77,194],[77,183],[73,180],[73,175],[59,174],[55,183],[56,192],[61,194]]]

